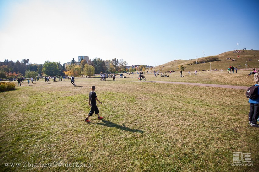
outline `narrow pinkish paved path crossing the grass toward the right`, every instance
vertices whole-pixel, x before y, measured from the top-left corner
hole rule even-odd
[[[129,81],[129,82],[138,82],[138,81]],[[197,85],[197,86],[205,86],[205,87],[233,88],[233,89],[242,89],[242,90],[247,90],[247,88],[248,88],[247,86],[201,84],[201,83],[192,83],[192,82],[170,82],[170,81],[146,81],[146,82],[167,83],[167,84]]]

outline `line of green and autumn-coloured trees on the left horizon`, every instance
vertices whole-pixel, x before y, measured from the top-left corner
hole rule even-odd
[[[61,65],[60,62],[45,61],[44,64],[31,64],[29,59],[23,59],[21,62],[5,60],[0,61],[0,78],[34,78],[38,75],[41,76],[81,76],[85,75],[90,77],[93,74],[100,73],[116,73],[129,71],[126,69],[128,63],[123,59],[112,59],[109,61],[110,68],[107,69],[105,62],[100,58],[89,59],[88,61],[81,60],[80,64],[75,63],[74,58],[71,61],[71,65]],[[134,71],[131,69],[130,71]],[[135,69],[136,71],[136,69]]]

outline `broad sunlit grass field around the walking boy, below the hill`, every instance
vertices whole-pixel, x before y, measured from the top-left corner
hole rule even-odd
[[[247,72],[184,76],[146,74],[147,81],[254,83]],[[69,81],[24,83],[0,93],[0,171],[258,170],[259,132],[248,126],[244,90],[120,82],[136,78],[135,74],[115,82],[76,79],[79,87]],[[98,107],[105,118],[98,120],[94,114],[91,123],[85,123],[92,85],[103,102]],[[231,166],[233,152],[251,153],[253,166]],[[52,167],[5,164],[22,166],[27,161],[26,166]],[[67,162],[75,167],[65,167]]]

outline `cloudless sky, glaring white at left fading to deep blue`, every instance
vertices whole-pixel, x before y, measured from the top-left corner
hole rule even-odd
[[[0,61],[156,66],[259,50],[258,19],[257,0],[0,0]]]

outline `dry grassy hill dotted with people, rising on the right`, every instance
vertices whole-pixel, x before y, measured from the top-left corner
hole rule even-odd
[[[240,65],[240,67],[238,67],[239,69],[258,68],[259,66],[258,50],[238,50],[238,51],[241,51],[241,52],[233,53],[233,51],[228,51],[219,55],[209,56],[209,57],[217,57],[219,59],[219,61],[211,62],[211,69],[224,70],[224,69],[227,69],[230,65],[235,67],[238,67],[238,65]],[[202,61],[203,59],[206,59],[206,58],[208,57],[198,58],[197,61]],[[227,58],[231,58],[231,59],[227,59]],[[235,59],[235,61],[232,61],[232,59]],[[252,59],[252,60],[249,61],[249,59]],[[247,65],[249,65],[249,67],[245,66],[246,62],[247,62]],[[193,65],[185,65],[189,63],[192,63]],[[184,67],[186,67],[185,71],[194,71],[195,69],[197,71],[210,70],[210,62],[196,64],[196,59],[170,61],[168,63],[155,67],[155,69],[153,70],[156,70],[156,71],[159,70],[161,72],[166,72],[171,70],[179,71],[177,68],[178,68],[178,65],[181,65],[181,64],[184,65]]]

